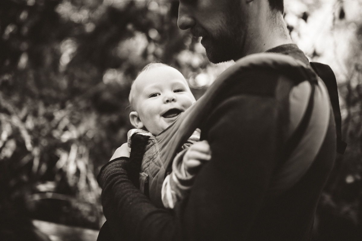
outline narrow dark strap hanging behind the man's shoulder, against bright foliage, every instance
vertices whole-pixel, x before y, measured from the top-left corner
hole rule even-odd
[[[325,86],[327,87],[329,98],[331,100],[334,121],[336,122],[336,134],[337,134],[337,152],[344,154],[346,150],[347,143],[342,141],[342,130],[341,130],[341,110],[338,100],[338,88],[336,76],[334,76],[333,70],[326,64],[311,62],[310,63],[313,70],[318,74],[318,76],[323,80]]]

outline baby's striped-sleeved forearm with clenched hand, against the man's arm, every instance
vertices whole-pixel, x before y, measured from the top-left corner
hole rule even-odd
[[[172,172],[166,176],[161,190],[166,208],[173,208],[187,195],[201,165],[210,159],[211,150],[207,141],[196,142],[175,157]]]

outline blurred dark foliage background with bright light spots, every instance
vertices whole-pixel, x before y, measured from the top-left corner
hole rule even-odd
[[[152,61],[199,98],[211,64],[176,0],[0,1],[0,240],[96,240],[96,176],[131,128],[132,80]],[[342,135],[316,241],[362,240],[362,0],[285,0],[293,41],[337,77]]]

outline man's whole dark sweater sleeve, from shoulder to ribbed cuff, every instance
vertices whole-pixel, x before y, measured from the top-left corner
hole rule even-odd
[[[214,109],[202,129],[212,158],[175,212],[153,206],[125,163],[107,165],[100,173],[107,220],[120,220],[130,240],[244,240],[276,165],[276,106],[272,97],[237,95]]]

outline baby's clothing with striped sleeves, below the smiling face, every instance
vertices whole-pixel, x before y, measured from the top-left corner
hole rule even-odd
[[[127,133],[127,145],[131,149],[130,152],[130,167],[129,176],[131,181],[136,187],[139,187],[148,198],[159,201],[162,199],[163,206],[166,208],[173,208],[177,201],[180,201],[188,193],[192,186],[193,177],[185,176],[182,166],[182,154],[188,147],[193,145],[200,139],[200,130],[196,129],[194,133],[187,139],[187,141],[181,146],[178,156],[172,167],[172,172],[167,173],[163,183],[158,185],[158,188],[162,188],[161,192],[150,193],[149,191],[149,179],[155,177],[155,175],[163,168],[163,163],[160,162],[156,156],[159,153],[159,147],[155,136],[142,129],[131,129]],[[147,151],[148,155],[144,156]],[[139,174],[138,180],[137,176]],[[159,194],[161,193],[161,197]],[[160,203],[155,202],[155,205],[159,206]]]

